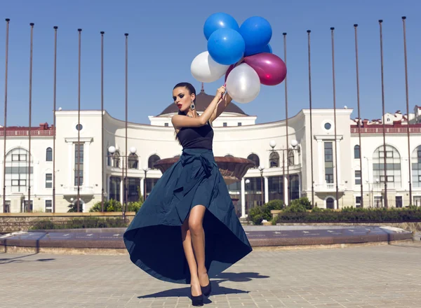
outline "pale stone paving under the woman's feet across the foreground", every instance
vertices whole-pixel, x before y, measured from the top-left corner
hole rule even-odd
[[[0,307],[191,307],[128,255],[0,253]],[[421,307],[421,242],[255,250],[213,279],[205,307]]]

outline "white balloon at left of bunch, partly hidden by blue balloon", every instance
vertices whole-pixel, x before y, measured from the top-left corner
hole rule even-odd
[[[190,71],[196,80],[201,83],[213,83],[227,72],[229,65],[222,65],[210,57],[209,52],[204,51],[197,55],[190,65]]]

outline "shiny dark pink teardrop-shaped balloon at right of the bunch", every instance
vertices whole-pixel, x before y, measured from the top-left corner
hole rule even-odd
[[[272,53],[259,53],[244,57],[244,63],[250,65],[263,85],[278,85],[286,77],[286,65],[280,57]]]

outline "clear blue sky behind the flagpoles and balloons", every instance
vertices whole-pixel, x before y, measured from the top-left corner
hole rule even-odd
[[[260,15],[273,29],[271,45],[283,58],[287,32],[289,116],[308,108],[307,29],[312,30],[314,108],[333,106],[330,27],[335,27],[338,107],[354,108],[356,78],[354,23],[359,24],[359,66],[363,118],[380,118],[380,38],[385,20],[385,102],[387,111],[406,111],[401,16],[407,16],[410,109],[421,104],[421,1],[415,0],[241,0],[241,1],[1,1],[0,122],[4,111],[4,42],[11,18],[8,125],[28,125],[29,22],[34,22],[32,123],[53,122],[53,26],[58,29],[57,107],[77,109],[78,28],[82,28],[81,106],[100,109],[100,31],[105,31],[105,109],[124,119],[124,33],[129,35],[128,120],[149,123],[172,103],[173,85],[189,81],[190,63],[206,50],[203,23],[223,11],[243,20]],[[205,85],[214,94],[223,80]],[[259,97],[239,104],[258,123],[285,117],[283,84],[262,86]]]

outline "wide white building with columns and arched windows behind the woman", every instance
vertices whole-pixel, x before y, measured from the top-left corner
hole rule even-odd
[[[196,109],[203,111],[213,97],[202,90],[197,95]],[[128,158],[128,201],[138,200],[140,193],[149,193],[161,172],[154,169],[160,158],[180,155],[181,147],[175,141],[171,116],[178,109],[171,104],[158,116],[149,117],[151,125],[128,123],[127,151],[125,123],[104,113],[101,130],[100,111],[81,111],[80,182],[79,192],[83,211],[100,202],[102,184],[107,199],[123,201],[121,183],[122,164]],[[334,134],[332,109],[312,111],[312,135],[310,134],[309,110],[302,110],[288,119],[288,144],[298,141],[294,150],[287,150],[286,121],[255,124],[256,116],[248,116],[235,104],[230,104],[215,123],[213,151],[215,156],[232,155],[249,158],[255,165],[264,166],[262,173],[256,167],[249,169],[241,182],[229,186],[239,216],[245,216],[248,208],[274,199],[288,200],[301,196],[312,200],[312,163],[314,174],[314,204],[321,208],[360,206],[361,175],[363,183],[363,206],[380,207],[385,204],[385,176],[383,172],[382,120],[363,120],[361,128],[360,169],[358,148],[358,120],[352,120],[352,109],[336,111],[337,137]],[[55,211],[65,212],[77,196],[77,111],[57,111],[55,138]],[[409,165],[411,161],[413,204],[421,205],[421,107],[415,106],[409,115],[410,151],[406,135],[406,115],[399,111],[387,113],[386,158],[387,201],[389,207],[405,207],[409,202]],[[33,211],[53,210],[53,127],[42,124],[32,127],[30,197]],[[101,151],[101,132],[104,146]],[[1,130],[0,136],[4,131]],[[276,146],[272,151],[270,141]],[[310,142],[312,140],[312,152]],[[1,144],[3,153],[4,142]],[[273,145],[273,144],[272,144]],[[114,157],[107,152],[115,146]],[[335,146],[338,155],[338,201],[336,201]],[[29,139],[27,127],[8,127],[6,139],[6,211],[25,211],[29,184]],[[135,151],[135,154],[131,154]],[[284,155],[283,155],[284,154]],[[101,176],[101,155],[104,156],[105,172]],[[109,157],[107,157],[109,155]],[[313,158],[313,159],[312,159]],[[286,165],[288,167],[288,180]],[[285,167],[283,169],[283,166]],[[4,165],[0,170],[3,181]],[[144,172],[144,167],[150,169]],[[283,175],[285,174],[285,176]],[[285,181],[284,181],[285,179]],[[249,180],[249,181],[247,181]],[[262,183],[262,186],[261,186]],[[289,188],[288,188],[289,184]],[[262,189],[263,188],[263,189]],[[284,191],[289,190],[288,194]],[[0,211],[3,211],[1,192]]]

